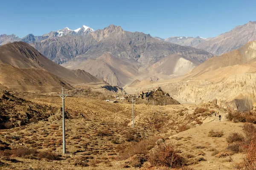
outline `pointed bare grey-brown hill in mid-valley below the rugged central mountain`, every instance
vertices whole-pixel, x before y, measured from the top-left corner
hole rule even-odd
[[[97,59],[88,59],[86,61],[69,62],[63,64],[70,69],[83,69],[90,72],[93,76],[99,77],[111,85],[123,85],[131,82],[134,77],[139,76],[141,73],[139,70],[139,63],[122,60],[113,57],[109,53],[102,54]]]

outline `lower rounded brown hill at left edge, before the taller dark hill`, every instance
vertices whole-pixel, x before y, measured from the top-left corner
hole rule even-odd
[[[63,86],[66,89],[73,88],[46,70],[17,68],[9,64],[0,64],[0,83],[9,89],[30,92],[60,91]]]

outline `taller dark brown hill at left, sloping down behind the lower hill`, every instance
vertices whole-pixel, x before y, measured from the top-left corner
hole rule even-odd
[[[42,71],[48,71],[50,74],[54,74],[72,85],[100,81],[96,77],[84,72],[83,74],[87,74],[87,76],[77,76],[69,69],[47,59],[25,42],[13,42],[1,46],[0,63],[9,64],[16,68],[36,68]],[[78,71],[75,73],[78,73]]]

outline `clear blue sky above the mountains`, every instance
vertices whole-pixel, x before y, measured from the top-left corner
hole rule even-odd
[[[0,34],[110,24],[154,37],[215,37],[256,20],[256,0],[0,0]]]

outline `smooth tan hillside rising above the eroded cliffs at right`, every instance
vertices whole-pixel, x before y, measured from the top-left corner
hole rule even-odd
[[[219,82],[235,74],[253,73],[256,69],[255,58],[256,41],[248,42],[237,50],[208,59],[184,77],[185,80],[206,79]]]

